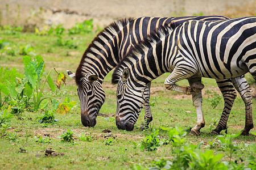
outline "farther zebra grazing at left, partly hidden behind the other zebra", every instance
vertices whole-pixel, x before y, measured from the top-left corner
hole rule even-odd
[[[105,101],[105,92],[102,88],[102,82],[105,75],[110,72],[123,56],[129,51],[133,44],[141,41],[151,31],[160,25],[175,22],[181,24],[189,19],[194,20],[220,20],[227,19],[225,16],[186,16],[172,18],[142,17],[137,19],[122,19],[108,25],[103,31],[98,33],[88,48],[85,50],[76,74],[68,71],[71,78],[76,79],[77,94],[81,104],[81,122],[84,126],[95,126],[96,117],[102,104]],[[218,80],[216,80],[218,83]],[[244,78],[241,78],[243,84],[247,84]],[[239,84],[238,84],[239,85]],[[247,84],[248,86],[248,84]],[[233,101],[236,99],[236,92],[230,79],[218,84],[218,87],[224,94],[224,116],[221,117],[216,133],[226,129],[225,122],[228,120]],[[150,95],[150,84],[145,94]],[[242,98],[245,95],[241,95]],[[149,100],[145,102],[145,122],[141,130],[147,128],[152,121]]]

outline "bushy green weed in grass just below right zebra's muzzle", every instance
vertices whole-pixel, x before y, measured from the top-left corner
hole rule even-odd
[[[163,142],[159,139],[158,130],[153,129],[150,135],[147,135],[146,138],[141,141],[141,148],[146,151],[154,151],[163,145]]]

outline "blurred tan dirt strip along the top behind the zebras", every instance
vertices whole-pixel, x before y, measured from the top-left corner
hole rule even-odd
[[[255,0],[1,0],[0,24],[35,27],[93,19],[105,27],[114,20],[139,16],[225,15],[230,18],[256,15]]]

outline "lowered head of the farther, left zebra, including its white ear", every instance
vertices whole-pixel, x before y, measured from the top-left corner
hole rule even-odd
[[[68,71],[68,70],[67,70]],[[71,78],[76,78],[75,73],[68,71]],[[77,95],[81,104],[81,121],[86,127],[96,125],[96,117],[102,104],[105,101],[105,92],[98,81],[98,77],[93,74],[82,76],[77,83]]]

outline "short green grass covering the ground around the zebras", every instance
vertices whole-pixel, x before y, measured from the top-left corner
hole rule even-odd
[[[44,61],[46,61],[46,72],[52,67],[56,67],[57,71],[71,70],[75,71],[79,65],[82,53],[92,41],[95,33],[88,33],[86,35],[68,36],[64,35],[63,39],[73,39],[78,44],[77,49],[69,49],[65,46],[57,46],[57,37],[37,36],[34,33],[19,33],[19,35],[4,35],[0,33],[0,40],[5,39],[11,41],[16,46],[31,44],[36,54],[40,54]],[[9,66],[9,68],[16,67],[19,73],[23,74],[22,55],[9,56],[5,53],[0,54],[1,66]],[[104,80],[104,90],[106,93],[106,101],[102,106],[100,113],[115,114],[116,100],[115,91],[116,86],[110,84],[111,75],[108,74]],[[152,129],[160,129],[160,126],[173,127],[180,126],[183,129],[192,128],[196,124],[196,111],[193,107],[191,96],[180,95],[176,92],[170,92],[164,89],[163,82],[168,74],[160,76],[151,84],[151,99],[154,103],[151,107],[153,121],[150,124],[150,130],[139,131],[139,126],[144,121],[142,111],[141,116],[133,131],[118,130],[115,126],[114,118],[97,117],[97,124],[94,128],[85,128],[81,124],[80,117],[80,101],[76,95],[75,81],[68,78],[67,86],[55,93],[46,90],[44,95],[57,97],[64,100],[64,97],[69,97],[71,101],[76,101],[75,107],[68,114],[55,114],[55,118],[60,121],[53,125],[43,127],[37,117],[43,115],[42,112],[24,112],[15,115],[9,133],[16,133],[18,141],[9,141],[5,137],[0,138],[0,167],[4,169],[129,169],[134,164],[141,163],[147,166],[152,160],[160,158],[172,158],[172,146],[160,146],[158,150],[153,152],[143,151],[139,148],[134,148],[133,142],[139,143],[146,134],[150,134]],[[249,76],[250,75],[246,75]],[[52,76],[53,77],[53,76]],[[201,129],[199,137],[187,136],[187,143],[199,143],[204,141],[208,143],[215,137],[209,135],[210,128],[214,122],[220,120],[222,107],[224,105],[223,99],[215,109],[210,106],[207,96],[204,94],[205,90],[216,90],[217,85],[214,79],[203,79],[205,89],[203,90],[203,111],[205,116],[205,127]],[[187,80],[179,82],[182,86],[188,86]],[[254,85],[253,85],[254,86]],[[220,93],[220,91],[217,91]],[[253,119],[256,120],[255,99],[253,99]],[[240,96],[234,102],[232,112],[228,121],[228,133],[238,133],[245,125],[245,106]],[[62,143],[61,139],[56,138],[61,135],[63,131],[72,129],[74,133],[85,133],[90,135],[92,142],[82,142],[75,135],[75,144]],[[109,129],[109,133],[104,133],[103,130]],[[256,133],[255,128],[251,130]],[[51,143],[38,143],[34,136],[49,134]],[[224,134],[224,131],[221,132]],[[166,131],[160,129],[160,138],[167,138]],[[113,146],[105,145],[108,138],[113,139]],[[255,138],[238,137],[235,139],[238,143],[255,143]],[[206,145],[206,144],[205,144]],[[20,152],[20,148],[27,152]],[[44,151],[46,148],[52,148],[57,153],[63,153],[64,156],[46,157]],[[223,152],[220,147],[213,148],[215,154],[224,154],[222,160],[229,160],[228,155]],[[248,156],[247,150],[241,150],[233,158],[246,158]]]

